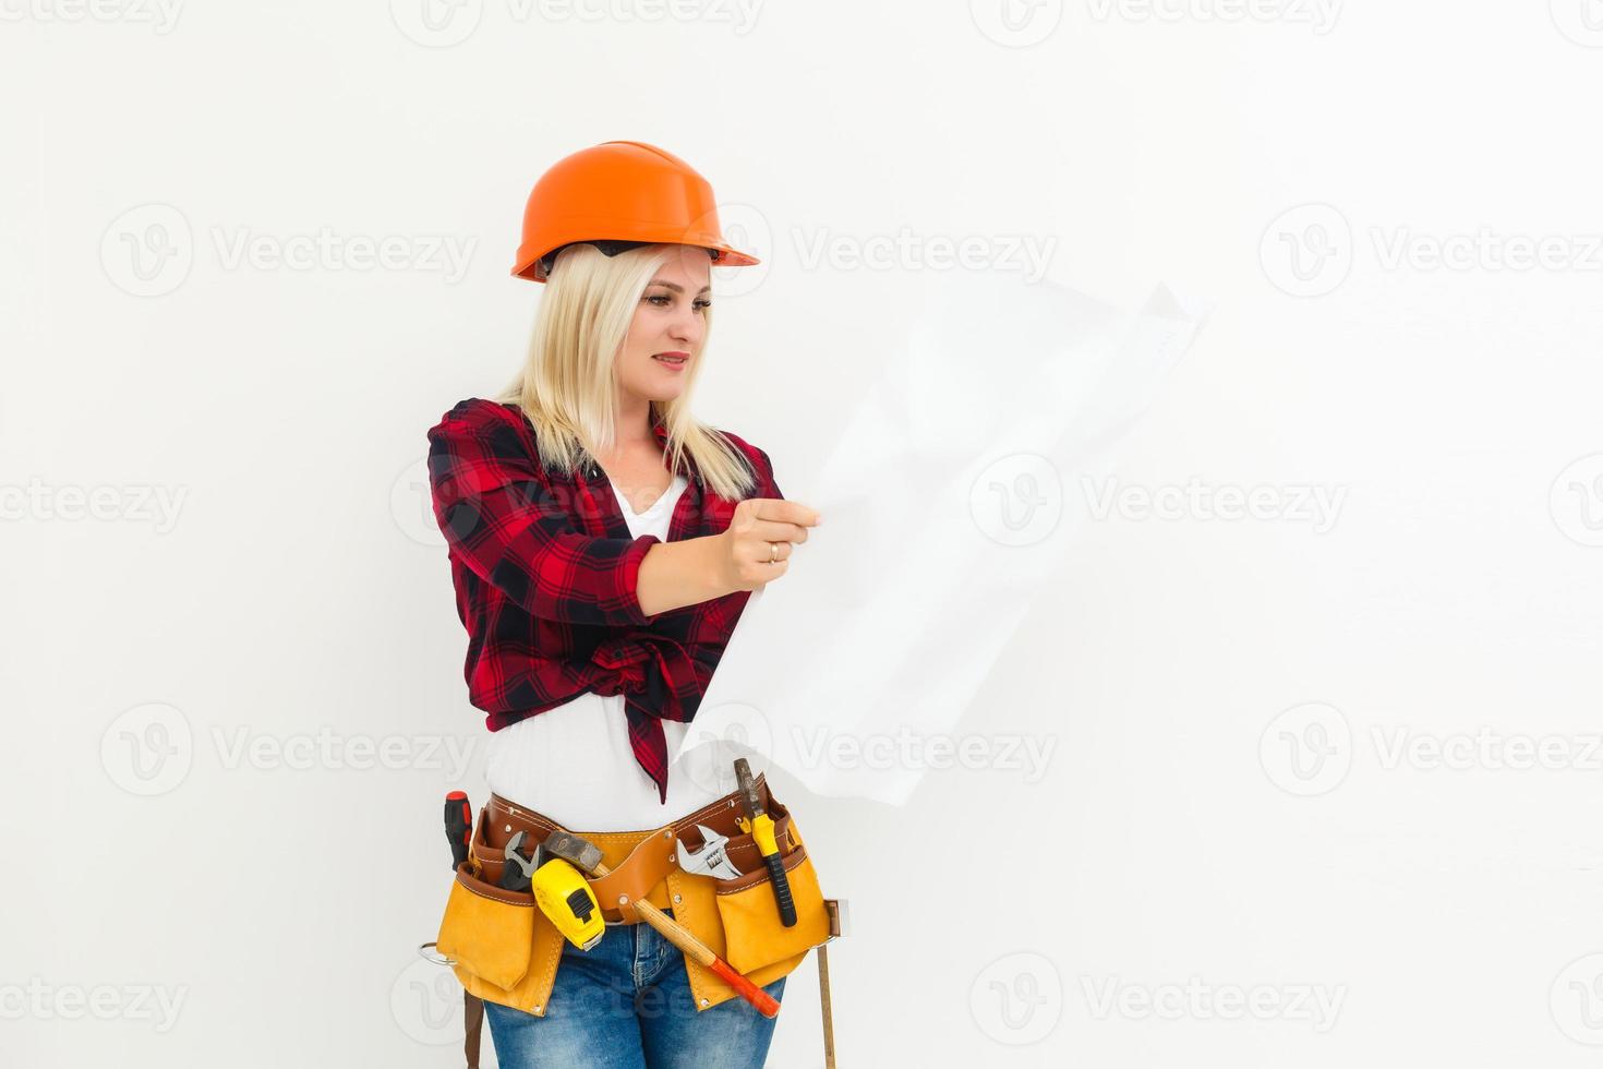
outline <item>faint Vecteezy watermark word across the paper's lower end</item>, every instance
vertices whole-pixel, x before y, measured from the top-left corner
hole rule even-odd
[[[925,734],[906,724],[894,732],[851,732],[824,726],[792,728],[792,744],[806,768],[931,769],[1018,773],[1039,784],[1058,748],[1056,736]]]

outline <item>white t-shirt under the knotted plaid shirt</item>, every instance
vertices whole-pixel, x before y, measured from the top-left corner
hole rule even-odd
[[[630,535],[654,534],[667,542],[673,506],[686,486],[683,474],[673,476],[662,497],[638,516],[612,487]],[[670,758],[686,728],[662,721]],[[701,787],[681,766],[670,766],[668,800],[659,801],[657,785],[635,761],[624,696],[603,697],[593,691],[492,731],[486,773],[497,795],[574,832],[649,832],[725,793]]]

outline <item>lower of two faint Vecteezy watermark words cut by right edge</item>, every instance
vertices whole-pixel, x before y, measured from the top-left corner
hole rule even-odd
[[[1475,731],[1423,732],[1409,726],[1369,729],[1383,771],[1411,768],[1422,773],[1600,773],[1603,736],[1504,732],[1481,724]]]

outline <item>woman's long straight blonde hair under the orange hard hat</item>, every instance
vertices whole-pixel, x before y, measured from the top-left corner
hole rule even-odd
[[[556,255],[534,317],[529,359],[495,397],[515,402],[535,430],[540,462],[574,473],[596,452],[617,441],[614,367],[628,337],[640,298],[657,268],[676,253],[675,245],[643,245],[616,256],[588,244]],[[712,309],[704,309],[712,332]],[[702,349],[707,348],[705,335]],[[686,369],[684,391],[667,404],[652,401],[649,418],[667,426],[668,470],[684,455],[694,460],[702,482],[726,500],[741,500],[757,479],[745,455],[725,434],[689,413],[701,375],[701,353]]]

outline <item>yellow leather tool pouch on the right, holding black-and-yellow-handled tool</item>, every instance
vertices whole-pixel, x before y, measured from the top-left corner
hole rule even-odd
[[[734,835],[726,846],[729,859],[745,875],[737,880],[712,881],[718,920],[723,925],[725,958],[736,971],[747,974],[789,958],[800,960],[800,955],[813,947],[829,942],[829,912],[824,907],[824,893],[819,889],[813,859],[808,857],[806,845],[789,811],[773,797],[769,806],[769,816],[784,822],[784,827],[777,829],[781,832],[777,845],[790,898],[795,902],[797,923],[785,928],[779,920],[773,877],[750,835]]]

